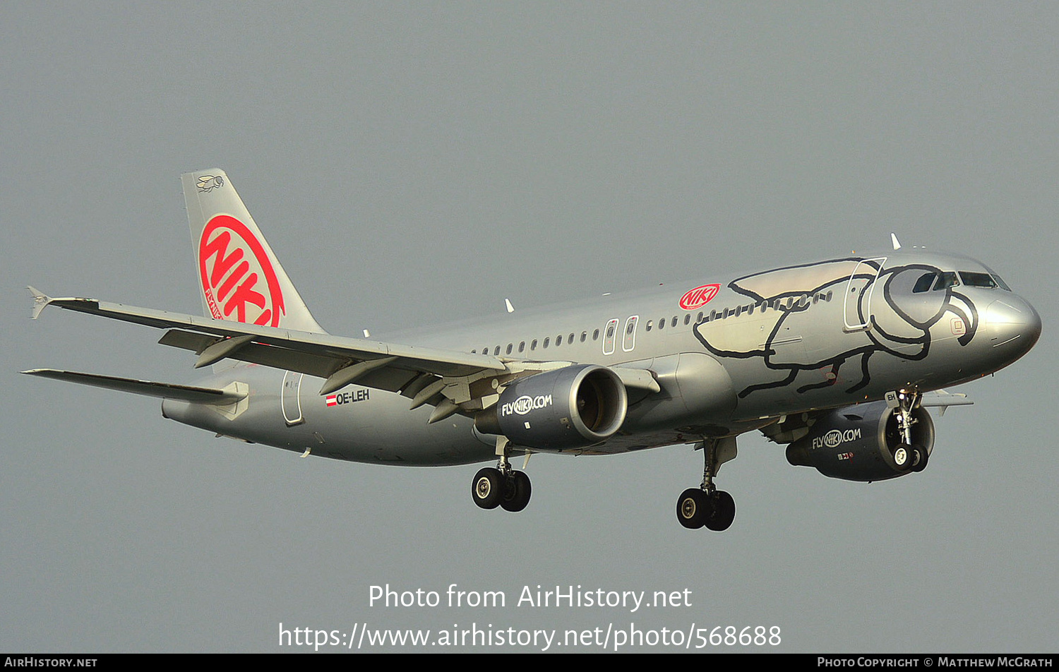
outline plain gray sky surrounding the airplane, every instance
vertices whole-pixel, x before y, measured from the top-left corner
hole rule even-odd
[[[0,650],[276,651],[279,623],[778,625],[808,652],[1055,651],[1055,3],[0,5]],[[740,439],[738,515],[690,532],[687,448],[394,469],[216,439],[151,399],[19,376],[191,382],[154,329],[33,284],[197,313],[178,176],[228,170],[319,322],[375,337],[879,249],[977,257],[1044,334],[935,421],[922,474],[852,484]],[[369,606],[369,586],[504,591]],[[516,607],[523,585],[690,607]],[[662,648],[659,648],[662,649]],[[723,650],[724,648],[721,647]]]

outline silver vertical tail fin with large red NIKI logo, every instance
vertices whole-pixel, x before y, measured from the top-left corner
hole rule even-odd
[[[225,171],[196,170],[180,180],[203,313],[215,320],[326,333]]]

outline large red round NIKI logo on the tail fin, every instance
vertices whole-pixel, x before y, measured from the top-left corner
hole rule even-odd
[[[270,327],[286,312],[280,278],[257,237],[231,215],[217,215],[199,238],[199,275],[210,314]]]

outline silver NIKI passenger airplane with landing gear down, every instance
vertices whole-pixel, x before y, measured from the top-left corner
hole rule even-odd
[[[496,460],[471,482],[483,509],[526,507],[534,453],[689,443],[703,475],[677,520],[721,531],[735,502],[714,482],[753,431],[833,478],[920,472],[935,439],[927,408],[971,403],[946,388],[1011,364],[1041,333],[1034,307],[988,267],[892,235],[882,253],[557,308],[514,311],[505,299],[499,319],[400,343],[338,337],[312,317],[225,171],[181,180],[201,316],[31,287],[32,316],[56,306],[164,329],[159,343],[191,350],[211,375],[184,385],[22,373],[160,397],[167,419],[303,457]]]

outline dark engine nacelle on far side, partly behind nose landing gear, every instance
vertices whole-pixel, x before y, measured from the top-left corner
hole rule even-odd
[[[923,408],[912,412],[912,446],[934,448],[934,421]],[[909,473],[894,460],[901,444],[897,415],[885,401],[831,411],[809,434],[787,447],[787,461],[843,480],[883,480]]]

